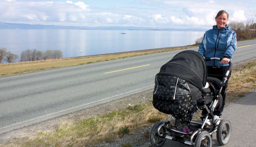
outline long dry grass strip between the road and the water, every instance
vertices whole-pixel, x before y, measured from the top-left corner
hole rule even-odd
[[[52,60],[35,61],[35,62],[18,62],[18,63],[10,63],[10,64],[0,64],[0,69],[1,69],[0,76],[20,74],[20,73],[32,72],[32,71],[38,71],[38,70],[46,70],[46,69],[52,69],[52,68],[58,68],[58,67],[77,66],[77,65],[89,64],[89,63],[95,63],[95,62],[127,58],[132,56],[153,54],[153,53],[164,52],[164,51],[187,49],[192,47],[196,47],[196,46],[151,49],[151,50],[131,51],[131,52],[115,53],[115,54],[104,54],[99,56],[84,56],[84,57],[76,57],[76,58],[52,59]]]

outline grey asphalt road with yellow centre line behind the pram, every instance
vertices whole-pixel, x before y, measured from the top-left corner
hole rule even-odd
[[[233,62],[256,57],[256,40],[237,46]],[[180,51],[2,77],[0,133],[153,88],[160,67]]]

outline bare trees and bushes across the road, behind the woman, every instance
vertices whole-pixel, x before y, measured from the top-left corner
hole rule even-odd
[[[249,18],[245,21],[230,21],[228,24],[230,29],[235,31],[237,40],[249,40],[256,38],[256,23],[254,18]],[[204,36],[197,38],[195,44],[199,45]]]

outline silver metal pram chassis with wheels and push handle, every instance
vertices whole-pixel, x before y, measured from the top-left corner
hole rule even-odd
[[[222,58],[205,58],[205,61],[210,61],[210,60],[213,60],[213,59],[216,59],[216,60],[222,60]],[[229,76],[229,74],[230,74],[230,70],[231,70],[231,68],[232,68],[232,62],[230,61],[229,62],[229,68],[228,68],[228,70],[227,70],[227,72],[226,72],[226,75],[223,77],[223,79],[222,79],[222,82],[224,83],[224,85],[225,85],[225,83],[227,82],[227,77]],[[212,138],[212,134],[213,133],[215,133],[215,132],[217,132],[218,131],[218,129],[219,129],[219,127],[218,127],[218,125],[216,125],[216,122],[214,122],[213,121],[213,125],[208,125],[208,124],[206,124],[206,122],[207,122],[207,119],[210,117],[212,120],[213,120],[213,116],[214,116],[214,114],[213,114],[213,112],[214,112],[214,110],[215,110],[215,108],[216,108],[216,105],[218,104],[218,101],[219,101],[219,96],[220,96],[220,94],[221,94],[221,91],[222,91],[222,89],[223,89],[223,86],[221,86],[221,88],[218,90],[218,94],[217,94],[217,96],[215,96],[214,97],[214,101],[212,101],[212,103],[210,104],[210,109],[208,109],[208,107],[206,106],[206,104],[204,104],[203,106],[196,106],[196,108],[197,108],[197,110],[200,110],[200,109],[206,109],[206,111],[207,111],[207,115],[206,115],[206,117],[205,117],[205,120],[201,123],[201,122],[194,122],[194,121],[191,121],[192,120],[192,118],[193,118],[193,116],[191,116],[191,119],[190,119],[190,121],[188,122],[190,125],[197,125],[197,126],[200,126],[201,125],[201,127],[199,128],[199,127],[197,127],[198,129],[197,130],[195,130],[194,132],[192,132],[192,133],[187,133],[187,132],[182,132],[182,131],[179,131],[179,130],[175,130],[175,129],[172,129],[172,128],[168,128],[167,129],[167,127],[169,126],[169,124],[170,124],[170,122],[171,122],[171,119],[173,118],[173,116],[171,116],[169,119],[168,119],[168,122],[164,122],[163,124],[159,124],[159,122],[158,122],[158,124],[156,123],[155,125],[159,125],[159,127],[157,128],[157,135],[158,135],[158,137],[160,137],[160,138],[164,138],[165,140],[166,139],[168,139],[168,140],[174,140],[174,141],[179,141],[179,142],[181,142],[181,143],[184,143],[184,144],[187,144],[187,145],[190,145],[190,146],[200,146],[200,143],[199,143],[199,145],[196,145],[196,141],[194,141],[195,140],[195,137],[197,138],[198,136],[199,136],[199,134],[200,133],[202,133],[203,132],[203,130],[207,130],[207,132],[210,134],[210,138],[209,138],[209,144],[210,144],[210,147],[212,146],[212,141],[211,141],[211,138]],[[224,123],[222,123],[222,125],[223,124],[227,124],[228,123],[228,125],[229,125],[229,131],[231,131],[231,126],[230,126],[230,122],[229,121],[227,121],[226,119],[224,119],[224,120],[222,120],[222,119],[219,119],[219,120],[221,120],[221,121],[224,121]],[[220,124],[221,124],[221,122],[220,122]],[[219,124],[219,125],[220,125]],[[163,127],[164,127],[164,129],[163,129]],[[218,128],[216,128],[216,127],[218,127]],[[151,130],[151,133],[152,133],[152,131],[156,131],[156,130],[153,130],[153,128],[154,128],[154,126],[152,127],[152,130]],[[205,129],[204,129],[205,128]],[[209,129],[210,128],[210,129]],[[163,129],[163,130],[165,130],[165,132],[161,132],[160,130],[161,129]],[[222,128],[221,128],[222,129]],[[204,131],[205,132],[205,131]],[[206,132],[206,133],[207,133]],[[150,133],[150,134],[151,134]],[[174,135],[174,136],[170,136],[170,135],[167,135],[168,133],[176,133],[176,134],[179,134],[179,135]],[[183,137],[180,137],[180,136],[190,136],[190,141],[188,141],[188,140],[185,140]],[[202,139],[204,139],[205,137],[203,137]],[[226,140],[226,142],[222,142],[222,141],[219,141],[218,140],[218,142],[221,144],[221,145],[224,145],[224,144],[226,144],[227,142],[228,142],[228,140],[229,140],[229,138],[230,138],[230,133],[229,133],[229,136],[228,136],[228,138],[227,138],[227,140]],[[218,137],[217,137],[217,139],[218,139]],[[164,140],[164,142],[165,142],[165,140]],[[152,138],[150,137],[150,141],[151,141],[151,143],[152,143]],[[164,143],[163,142],[163,143]],[[201,140],[200,140],[200,142],[201,142]],[[162,146],[163,145],[163,143],[160,143],[159,145],[157,145],[157,146]],[[155,146],[154,144],[152,144],[153,146]]]

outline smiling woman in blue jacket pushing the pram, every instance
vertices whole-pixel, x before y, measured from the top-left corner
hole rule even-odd
[[[228,62],[232,59],[232,55],[236,50],[236,33],[229,29],[227,25],[228,21],[228,13],[224,10],[218,12],[215,17],[216,25],[213,26],[213,29],[207,30],[204,35],[203,41],[199,45],[198,52],[205,56],[205,58],[223,58],[221,61],[212,60],[207,61],[207,73],[214,74],[216,78],[222,80],[221,76],[225,75],[227,69],[229,67]],[[231,71],[230,71],[231,75]],[[211,75],[213,77],[213,75]],[[230,76],[228,77],[228,79]],[[226,97],[226,88],[227,83],[221,91],[222,101],[220,100],[219,106],[216,107],[214,111],[214,121],[218,125],[220,122],[219,116],[221,116],[221,112],[223,111],[225,105],[225,97]],[[205,112],[203,111],[202,114]]]

